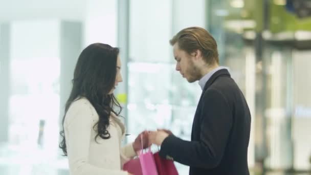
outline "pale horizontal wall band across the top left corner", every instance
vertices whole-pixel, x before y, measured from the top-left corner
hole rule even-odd
[[[0,0],[0,21],[61,18],[80,20],[86,0]]]

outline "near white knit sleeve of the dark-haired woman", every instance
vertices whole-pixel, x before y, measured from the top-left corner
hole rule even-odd
[[[65,140],[72,175],[127,175],[126,171],[105,169],[90,164],[89,149],[93,128],[91,104],[83,100],[72,103],[65,116]],[[109,151],[109,150],[107,150]]]

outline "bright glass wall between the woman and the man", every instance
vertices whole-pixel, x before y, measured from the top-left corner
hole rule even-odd
[[[202,91],[197,83],[189,84],[175,71],[169,45],[174,34],[189,26],[205,27],[205,1],[130,1],[128,141],[144,129],[157,128],[171,129],[190,140]],[[176,166],[180,174],[188,174],[188,167]]]

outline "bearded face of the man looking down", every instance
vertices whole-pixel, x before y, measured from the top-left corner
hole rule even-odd
[[[201,78],[201,73],[194,65],[194,56],[179,49],[177,42],[173,45],[173,52],[176,60],[176,71],[179,71],[190,83],[199,80]]]

